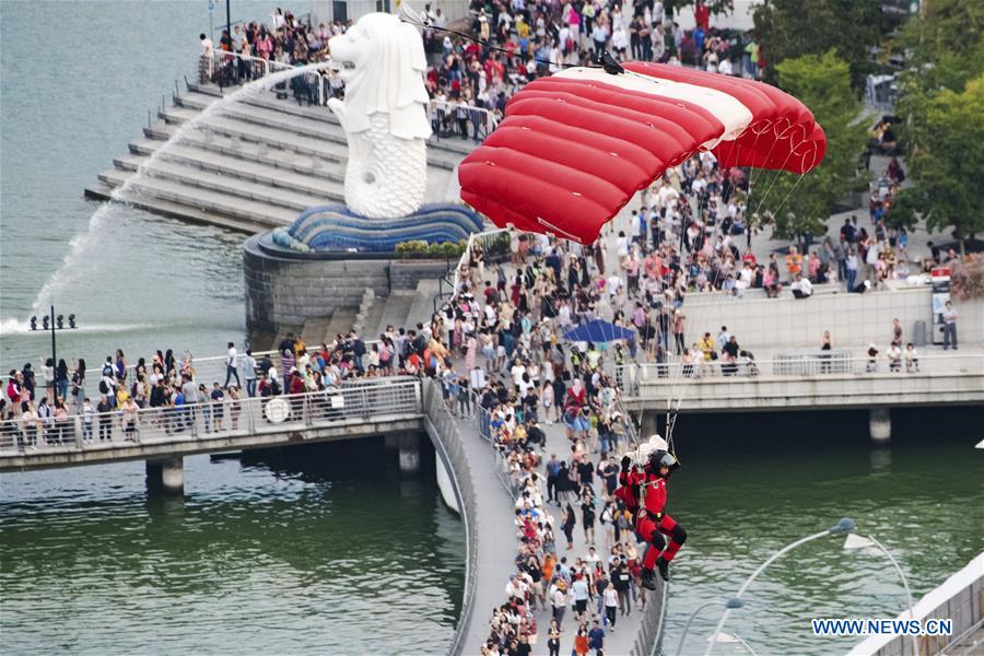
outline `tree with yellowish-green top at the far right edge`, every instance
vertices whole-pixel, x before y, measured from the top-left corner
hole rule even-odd
[[[963,254],[964,239],[984,231],[984,74],[921,107],[925,124],[909,157],[914,186],[899,194],[890,220],[912,225],[922,215],[927,231],[952,227]]]

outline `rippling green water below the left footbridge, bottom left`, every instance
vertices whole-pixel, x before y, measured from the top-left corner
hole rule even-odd
[[[5,475],[3,651],[445,652],[460,523],[389,456],[186,458],[184,500],[149,499],[142,462]]]

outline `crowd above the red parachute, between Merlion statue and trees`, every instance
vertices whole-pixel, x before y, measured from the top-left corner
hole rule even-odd
[[[448,113],[442,127],[480,107],[502,116],[508,98],[526,83],[567,66],[595,61],[602,50],[625,61],[692,65],[723,74],[755,78],[764,67],[751,35],[725,35],[710,25],[710,9],[694,7],[696,25],[684,31],[664,3],[527,2],[475,0],[466,32],[445,31],[441,10],[424,8],[429,27],[423,37],[434,65],[426,75],[431,96],[460,109]],[[465,36],[462,36],[465,34]],[[741,57],[741,70],[731,60]],[[468,122],[461,122],[467,137]],[[476,126],[478,127],[478,126]],[[476,136],[477,137],[477,136]]]

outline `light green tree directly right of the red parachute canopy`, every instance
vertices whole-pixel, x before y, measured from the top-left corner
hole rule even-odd
[[[847,62],[834,50],[787,59],[776,68],[781,86],[812,110],[827,133],[827,153],[803,176],[754,172],[751,204],[772,216],[776,237],[823,234],[831,208],[858,181],[858,160],[868,140],[859,120],[862,105],[851,91]]]

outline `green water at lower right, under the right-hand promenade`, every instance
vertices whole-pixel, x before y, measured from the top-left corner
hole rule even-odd
[[[683,467],[669,513],[687,527],[675,561],[664,654],[687,618],[731,597],[771,554],[850,516],[899,561],[916,600],[984,550],[984,410],[893,410],[892,442],[870,445],[866,412],[683,415]],[[893,618],[905,593],[880,554],[821,538],[771,565],[724,631],[758,654],[843,654],[855,639],[817,639],[811,618]],[[703,654],[721,610],[706,609],[684,654]],[[740,654],[722,644],[716,654]]]

